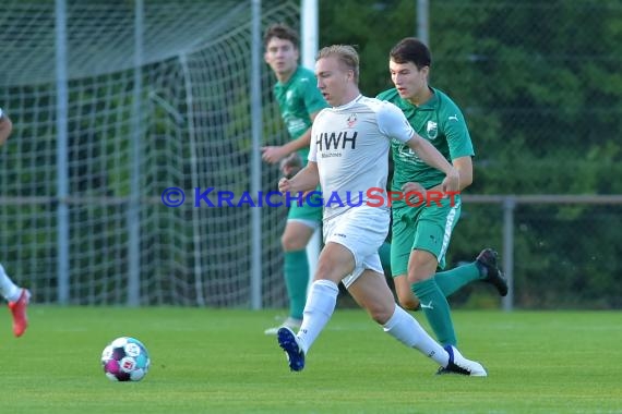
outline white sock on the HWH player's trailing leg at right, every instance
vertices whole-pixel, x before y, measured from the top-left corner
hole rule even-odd
[[[441,366],[447,366],[450,355],[421,328],[409,313],[395,305],[393,316],[383,325],[384,331],[408,348],[416,348]]]

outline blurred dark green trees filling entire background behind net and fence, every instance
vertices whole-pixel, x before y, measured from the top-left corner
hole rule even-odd
[[[475,182],[465,192],[471,198],[447,261],[473,260],[487,246],[503,251],[503,197],[620,198],[622,1],[428,2],[431,85],[462,108],[476,148]],[[251,188],[251,2],[141,2],[143,63],[134,66],[139,2],[67,0],[67,148],[57,133],[56,3],[8,0],[0,14],[0,106],[15,121],[0,165],[0,261],[35,302],[57,303],[58,205],[65,203],[70,303],[127,303],[134,246],[141,304],[248,308],[252,210],[168,208],[160,195],[168,186]],[[417,3],[319,0],[319,45],[356,45],[361,90],[375,96],[392,86],[390,49],[418,33]],[[299,27],[300,0],[261,4],[262,28]],[[287,136],[271,95],[274,76],[261,66],[261,135],[277,144]],[[142,109],[134,112],[136,99]],[[141,148],[132,151],[136,137]],[[67,199],[57,185],[63,153]],[[141,194],[131,185],[136,171]],[[262,190],[273,191],[278,169],[263,165],[261,175]],[[130,240],[128,216],[136,196],[140,245]],[[287,302],[285,214],[261,211],[267,307]],[[622,308],[621,204],[518,198],[512,224],[516,307]],[[491,292],[474,284],[451,300],[499,307]]]

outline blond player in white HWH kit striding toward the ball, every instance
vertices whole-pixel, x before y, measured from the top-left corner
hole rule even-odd
[[[360,95],[359,58],[351,46],[320,50],[315,76],[332,108],[323,109],[315,118],[307,167],[278,183],[280,192],[290,194],[311,191],[320,183],[324,196],[324,248],[302,325],[298,333],[288,327],[277,332],[289,368],[304,368],[306,355],[328,322],[339,292],[337,284],[343,282],[371,318],[405,345],[419,350],[450,372],[487,376],[479,363],[466,360],[454,346],[443,349],[395,303],[378,255],[388,231],[388,207],[367,205],[370,188],[386,187],[391,139],[407,143],[424,162],[443,171],[445,191],[458,188],[457,171],[415,133],[397,107]],[[351,203],[331,205],[330,195]]]

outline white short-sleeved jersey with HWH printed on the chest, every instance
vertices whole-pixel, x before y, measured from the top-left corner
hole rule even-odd
[[[313,121],[309,161],[318,162],[324,220],[364,204],[374,188],[384,192],[391,139],[407,142],[414,135],[391,102],[359,95],[323,109]]]

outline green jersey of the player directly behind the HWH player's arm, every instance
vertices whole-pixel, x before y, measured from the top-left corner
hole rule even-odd
[[[450,162],[455,158],[473,157],[475,155],[473,143],[458,106],[441,90],[431,89],[432,97],[419,107],[402,99],[395,88],[381,93],[378,99],[393,102],[402,109],[412,129],[428,139]],[[393,139],[391,149],[394,165],[392,191],[402,191],[402,185],[407,182],[416,182],[426,188],[431,188],[445,178],[442,171],[423,162],[408,145]],[[405,207],[406,203],[399,200],[393,206]]]

